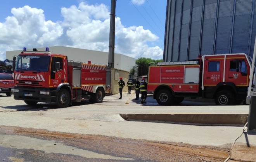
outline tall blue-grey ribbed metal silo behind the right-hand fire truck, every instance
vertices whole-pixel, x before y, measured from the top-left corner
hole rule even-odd
[[[198,55],[253,56],[255,0],[167,0],[163,61]]]

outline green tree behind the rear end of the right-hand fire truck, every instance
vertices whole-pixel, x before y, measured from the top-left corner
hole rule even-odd
[[[149,73],[149,64],[150,62],[163,62],[162,59],[154,60],[150,58],[140,57],[135,61],[135,64],[138,66],[138,76],[147,75]]]

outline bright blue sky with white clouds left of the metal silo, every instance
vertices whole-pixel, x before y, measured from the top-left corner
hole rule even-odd
[[[111,0],[8,0],[0,5],[0,60],[22,47],[108,51]],[[163,58],[166,0],[117,0],[115,52]]]

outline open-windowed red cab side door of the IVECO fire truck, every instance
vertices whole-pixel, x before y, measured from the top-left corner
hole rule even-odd
[[[52,57],[49,87],[57,87],[61,83],[67,83],[66,57]]]

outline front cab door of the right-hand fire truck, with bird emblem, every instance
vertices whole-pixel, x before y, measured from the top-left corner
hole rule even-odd
[[[245,60],[241,59],[230,59],[227,62],[227,82],[234,83],[236,86],[248,86],[248,70]]]

